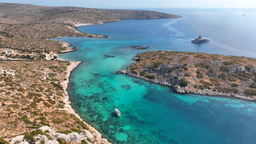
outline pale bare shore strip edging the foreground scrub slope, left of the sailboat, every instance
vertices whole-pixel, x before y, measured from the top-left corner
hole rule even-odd
[[[59,59],[61,60],[61,59]],[[62,61],[62,60],[61,60]],[[81,64],[81,62],[70,62],[69,67],[67,67],[66,70],[66,79],[64,82],[62,82],[62,87],[64,88],[65,94],[64,94],[64,102],[65,102],[65,106],[64,109],[71,113],[76,115],[81,121],[83,121],[83,119],[78,115],[78,113],[75,112],[74,109],[72,109],[71,106],[71,102],[69,101],[69,93],[67,92],[67,86],[69,84],[69,76],[70,73],[76,68],[78,67],[78,65]],[[104,144],[111,144],[108,142],[107,139],[102,138],[102,134],[99,133],[99,131],[97,131],[95,128],[91,127],[91,125],[87,124],[87,122],[85,122],[85,124],[87,125],[87,127],[89,128],[89,131],[91,132],[91,134],[93,134],[93,142],[96,144],[100,144],[100,143],[104,143]]]

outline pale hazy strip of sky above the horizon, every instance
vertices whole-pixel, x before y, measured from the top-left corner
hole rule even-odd
[[[0,2],[90,8],[256,8],[256,0],[0,0]]]

